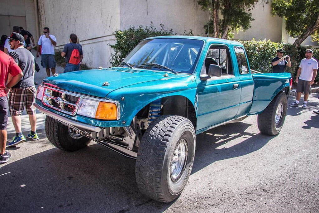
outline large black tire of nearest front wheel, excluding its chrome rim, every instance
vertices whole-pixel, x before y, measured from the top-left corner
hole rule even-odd
[[[187,144],[185,162],[180,175],[172,179],[173,153],[181,141]],[[176,199],[189,179],[195,145],[195,130],[189,119],[164,115],[154,120],[145,131],[137,152],[135,175],[139,190],[159,202]]]

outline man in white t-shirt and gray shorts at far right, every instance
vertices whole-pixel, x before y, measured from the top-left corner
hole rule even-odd
[[[290,106],[299,106],[301,93],[304,93],[304,102],[302,104],[302,108],[307,109],[307,100],[310,88],[315,82],[315,77],[318,70],[318,62],[312,57],[312,53],[312,49],[306,49],[306,58],[302,59],[300,62],[296,76],[297,98],[295,102],[290,104]]]

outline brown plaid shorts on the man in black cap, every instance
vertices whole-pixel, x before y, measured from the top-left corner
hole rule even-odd
[[[35,87],[11,88],[9,93],[9,111],[10,115],[22,115],[24,106],[28,115],[35,114]]]

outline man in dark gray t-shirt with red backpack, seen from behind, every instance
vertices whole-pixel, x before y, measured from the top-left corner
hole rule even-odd
[[[65,62],[67,63],[64,68],[64,72],[78,71],[80,69],[80,64],[83,59],[83,50],[81,44],[77,44],[78,36],[74,33],[70,34],[70,43],[64,45],[63,51],[61,53],[62,57],[65,57]],[[70,63],[70,58],[74,49],[79,52],[79,63]]]

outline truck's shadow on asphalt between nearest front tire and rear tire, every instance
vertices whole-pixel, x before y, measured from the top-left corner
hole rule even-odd
[[[250,133],[247,130],[249,126],[252,125],[242,122],[226,124],[197,135],[196,154],[192,173],[201,170],[215,161],[254,152],[275,137],[261,133]],[[225,147],[228,142],[239,137],[247,139],[240,143],[229,145],[229,148]]]

